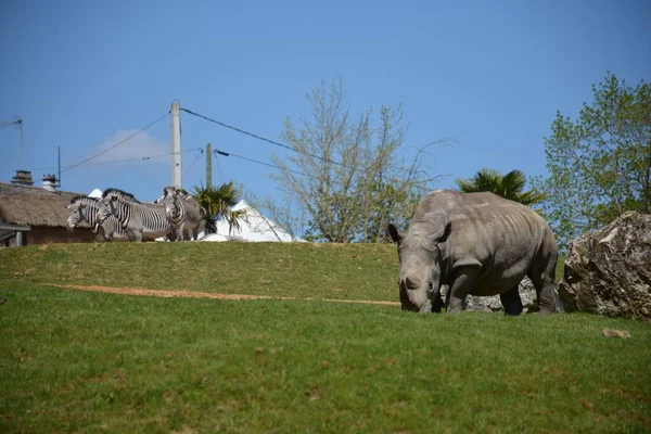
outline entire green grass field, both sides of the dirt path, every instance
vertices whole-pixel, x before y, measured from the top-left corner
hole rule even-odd
[[[322,301],[396,302],[397,270],[384,245],[0,250],[0,432],[651,431],[650,324]]]

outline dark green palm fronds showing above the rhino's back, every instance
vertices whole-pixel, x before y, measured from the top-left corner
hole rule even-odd
[[[456,182],[464,193],[490,191],[498,196],[523,205],[534,205],[545,200],[546,196],[546,193],[539,193],[535,189],[523,192],[526,176],[520,170],[511,170],[502,176],[495,169],[484,167],[473,178],[457,179]]]

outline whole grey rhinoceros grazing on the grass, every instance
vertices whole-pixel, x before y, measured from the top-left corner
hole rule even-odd
[[[518,284],[534,283],[539,315],[556,311],[558,247],[534,210],[496,194],[437,190],[419,203],[406,233],[386,230],[398,245],[403,310],[458,314],[469,294],[500,295],[506,315],[520,315]]]

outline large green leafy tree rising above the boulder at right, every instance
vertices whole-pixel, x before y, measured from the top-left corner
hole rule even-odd
[[[607,73],[578,118],[557,112],[545,138],[546,214],[561,245],[651,202],[651,86],[631,88]]]

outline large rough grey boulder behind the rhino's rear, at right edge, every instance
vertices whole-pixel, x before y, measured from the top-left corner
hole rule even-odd
[[[559,295],[567,311],[651,321],[651,215],[626,213],[571,242]]]

